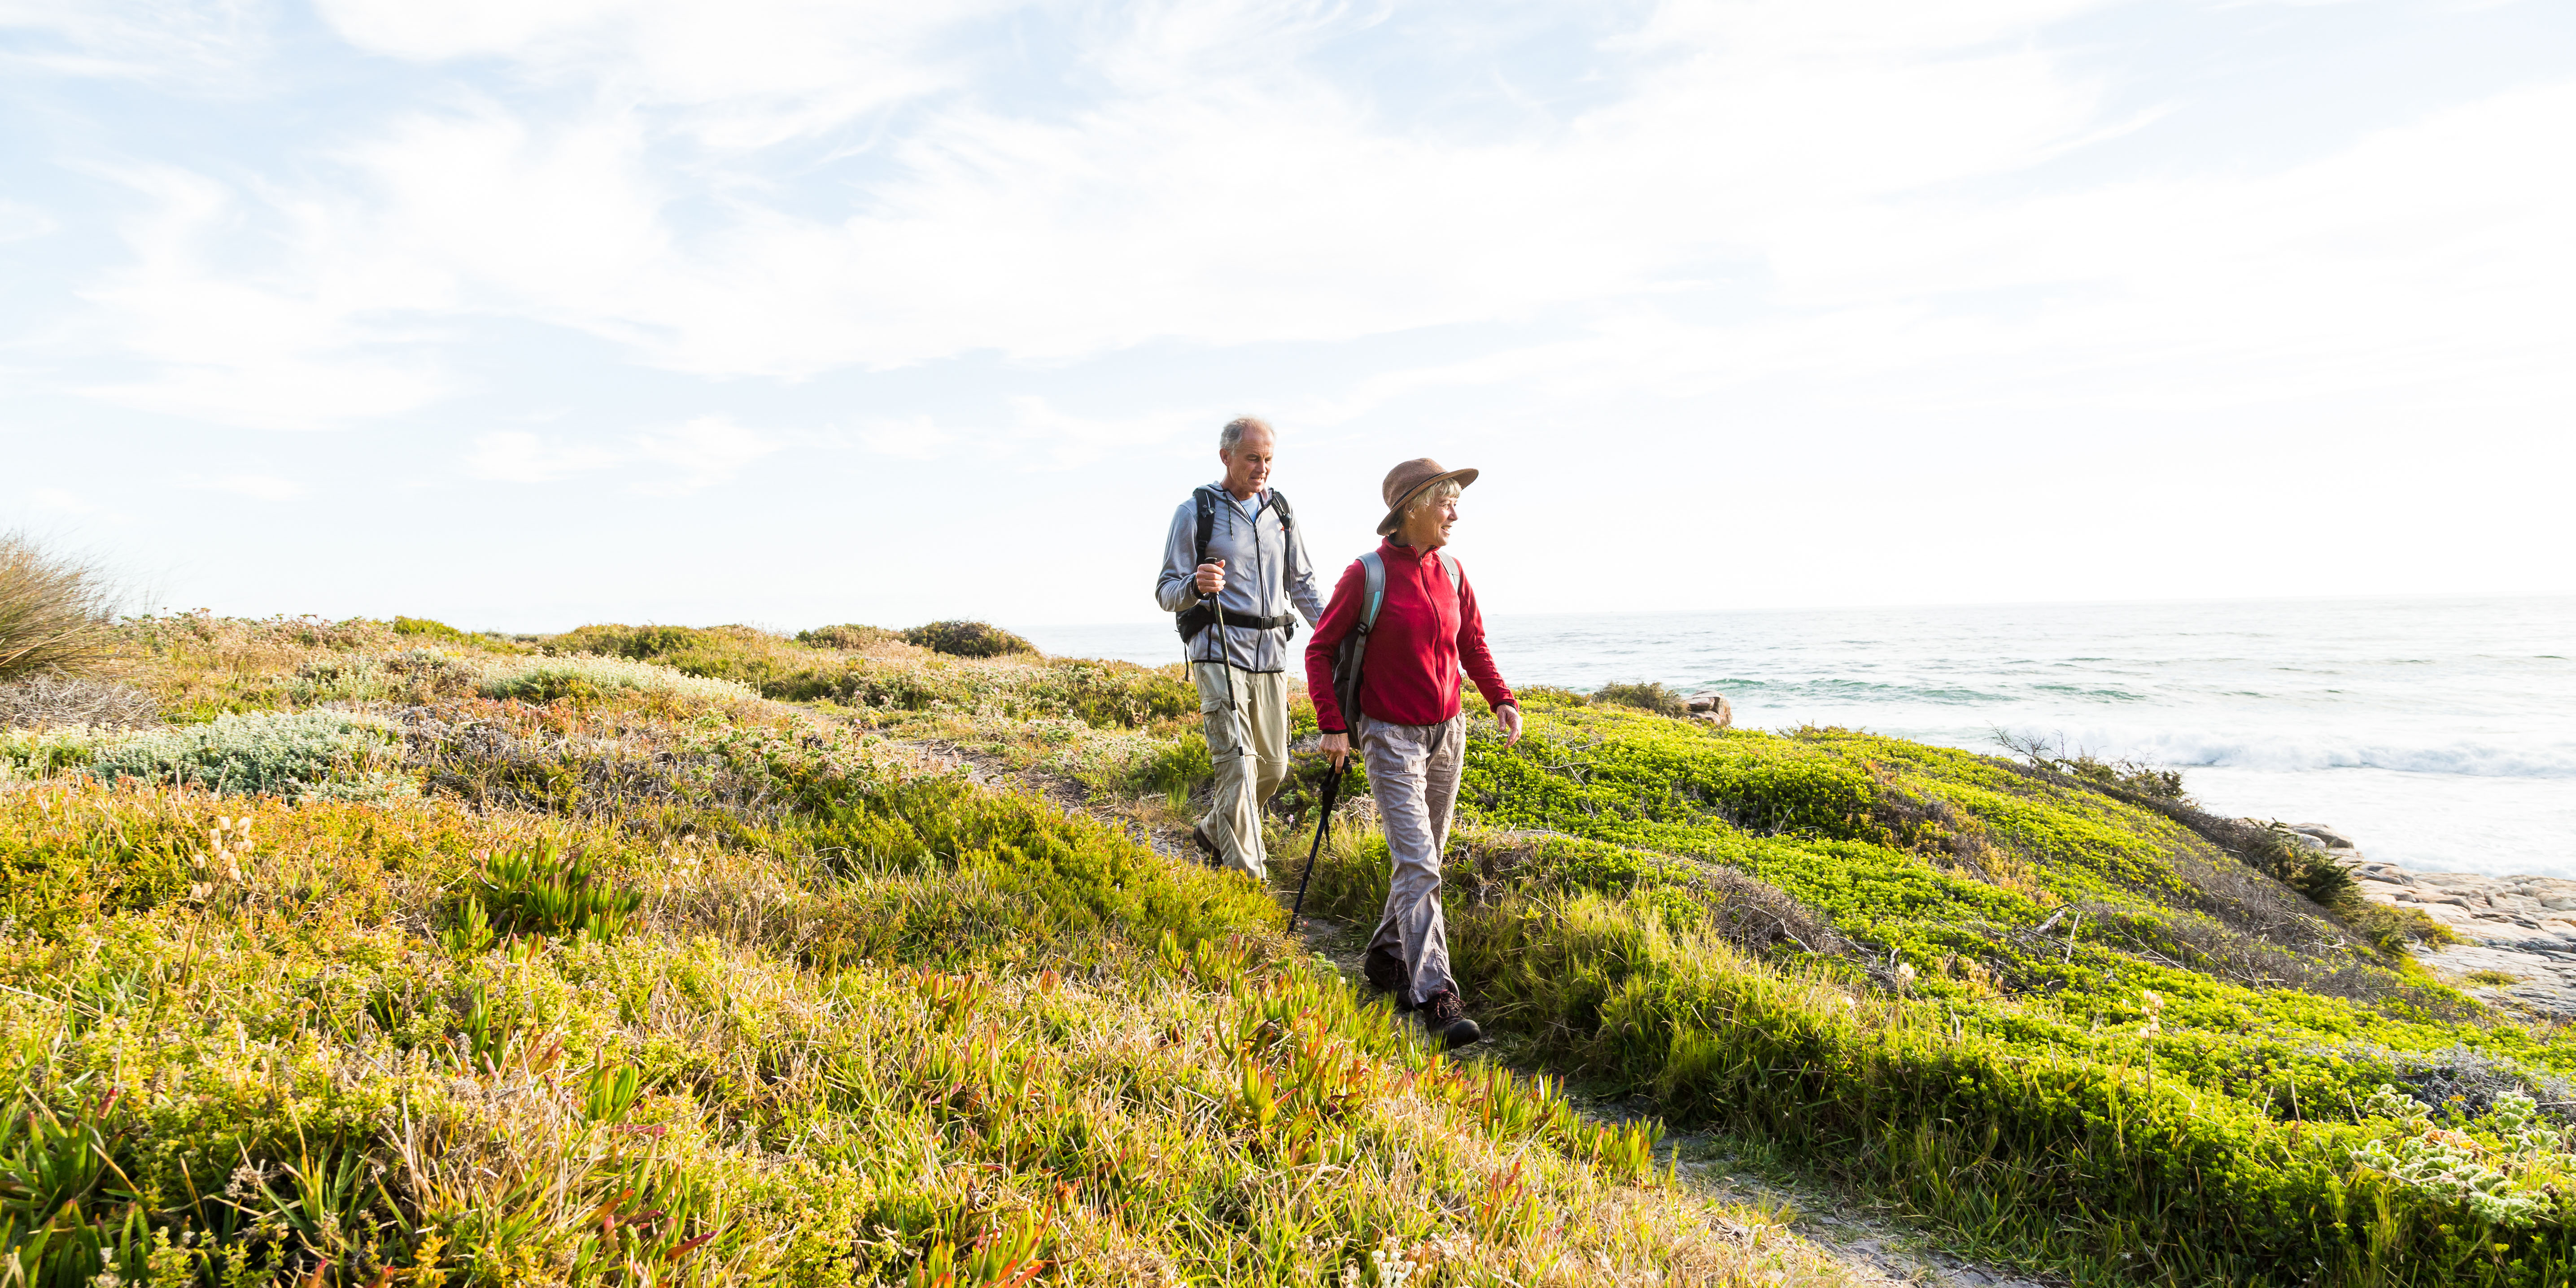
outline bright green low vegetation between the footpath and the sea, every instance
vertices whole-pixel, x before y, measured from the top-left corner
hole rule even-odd
[[[2272,829],[1942,747],[1530,701],[1461,793],[1453,961],[1577,1077],[2022,1257],[2563,1283],[2576,1041],[2262,871]],[[1383,842],[1309,907],[1383,896]],[[2429,927],[2427,927],[2429,935]]]

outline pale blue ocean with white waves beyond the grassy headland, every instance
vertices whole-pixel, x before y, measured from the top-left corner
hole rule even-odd
[[[1175,662],[1170,623],[1038,626]],[[1721,690],[1741,729],[1996,732],[2184,770],[2205,809],[2324,822],[2421,871],[2576,878],[2576,598],[1499,616],[1512,685]]]

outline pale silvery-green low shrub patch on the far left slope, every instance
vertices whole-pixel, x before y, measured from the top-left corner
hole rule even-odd
[[[206,791],[381,799],[412,791],[407,778],[376,768],[392,762],[394,742],[384,721],[345,711],[216,716],[100,747],[88,770]]]

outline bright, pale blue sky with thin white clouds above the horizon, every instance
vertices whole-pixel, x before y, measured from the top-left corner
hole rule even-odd
[[[2576,5],[0,0],[0,528],[137,608],[2576,592]]]

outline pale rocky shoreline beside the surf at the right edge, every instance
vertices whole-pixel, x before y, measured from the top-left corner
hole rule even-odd
[[[2576,881],[2419,873],[2370,860],[2326,824],[2290,829],[2349,871],[2367,899],[2424,912],[2468,940],[2419,945],[2416,958],[2434,974],[2491,1005],[2576,1020]]]

